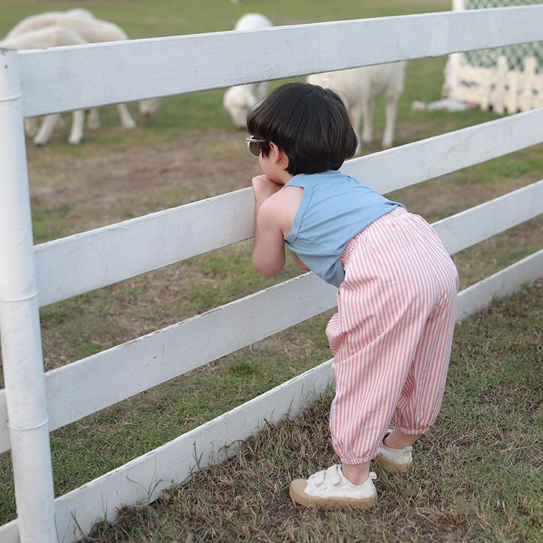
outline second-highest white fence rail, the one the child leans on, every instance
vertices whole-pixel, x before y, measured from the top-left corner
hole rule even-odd
[[[540,142],[543,108],[359,157],[342,172],[386,193]],[[36,246],[39,302],[65,300],[253,234],[253,191],[245,188],[49,241]]]

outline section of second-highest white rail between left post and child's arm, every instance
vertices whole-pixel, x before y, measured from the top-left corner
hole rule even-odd
[[[40,305],[111,285],[254,234],[246,188],[36,246]]]

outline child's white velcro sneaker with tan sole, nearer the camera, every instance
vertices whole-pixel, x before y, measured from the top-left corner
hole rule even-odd
[[[377,503],[377,491],[373,480],[374,472],[362,485],[353,485],[345,478],[341,466],[333,465],[311,475],[308,479],[295,479],[289,487],[293,502],[305,507],[316,505],[329,509],[337,505],[351,507],[372,507]]]

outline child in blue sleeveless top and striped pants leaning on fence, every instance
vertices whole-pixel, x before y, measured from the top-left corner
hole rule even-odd
[[[412,444],[439,413],[458,274],[419,215],[338,171],[357,140],[333,91],[283,85],[250,111],[247,129],[264,173],[252,180],[256,271],[280,272],[286,243],[300,269],[339,287],[326,335],[336,379],[330,430],[342,464],[294,480],[290,495],[304,506],[368,507],[377,500],[370,461],[409,469]]]

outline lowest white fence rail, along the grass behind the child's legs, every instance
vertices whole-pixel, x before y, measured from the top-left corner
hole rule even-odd
[[[457,319],[486,307],[496,296],[509,296],[523,282],[543,274],[543,250],[500,270],[458,293]],[[195,469],[219,463],[235,453],[235,443],[312,403],[333,381],[331,360],[272,388],[177,439],[56,498],[56,523],[71,541],[88,533],[94,522],[139,501],[152,502],[173,482],[182,483]],[[3,543],[18,543],[17,520],[0,527]],[[82,532],[81,532],[82,530]]]

